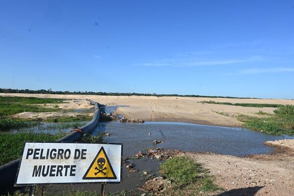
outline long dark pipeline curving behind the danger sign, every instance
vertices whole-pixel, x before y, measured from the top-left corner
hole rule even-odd
[[[99,123],[99,117],[100,117],[100,109],[98,106],[100,106],[97,102],[86,99],[90,102],[91,105],[95,106],[95,112],[92,118],[92,121],[86,124],[85,126],[81,127],[80,129],[83,131],[83,133],[92,133],[94,129],[97,127]],[[57,140],[57,142],[75,142],[80,141],[83,133],[80,131],[73,131],[64,137]],[[0,190],[6,190],[10,187],[13,187],[15,182],[15,177],[17,173],[17,169],[19,166],[20,159],[16,159],[14,161],[11,161],[9,163],[6,163],[5,165],[0,166]]]

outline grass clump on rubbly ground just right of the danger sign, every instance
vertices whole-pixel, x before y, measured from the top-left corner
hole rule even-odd
[[[198,195],[200,191],[219,190],[206,172],[200,164],[186,156],[172,157],[160,165],[161,176],[172,182],[168,195]]]

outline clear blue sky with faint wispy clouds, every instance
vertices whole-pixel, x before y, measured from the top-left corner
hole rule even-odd
[[[288,0],[2,0],[0,87],[294,98],[293,19]]]

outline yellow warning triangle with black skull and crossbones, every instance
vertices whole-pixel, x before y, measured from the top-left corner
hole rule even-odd
[[[97,153],[83,179],[117,179],[103,147]]]

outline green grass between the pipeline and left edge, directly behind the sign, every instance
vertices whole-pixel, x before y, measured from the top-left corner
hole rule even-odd
[[[66,133],[51,135],[49,133],[2,133],[0,134],[0,165],[18,159],[25,141],[55,141]]]

